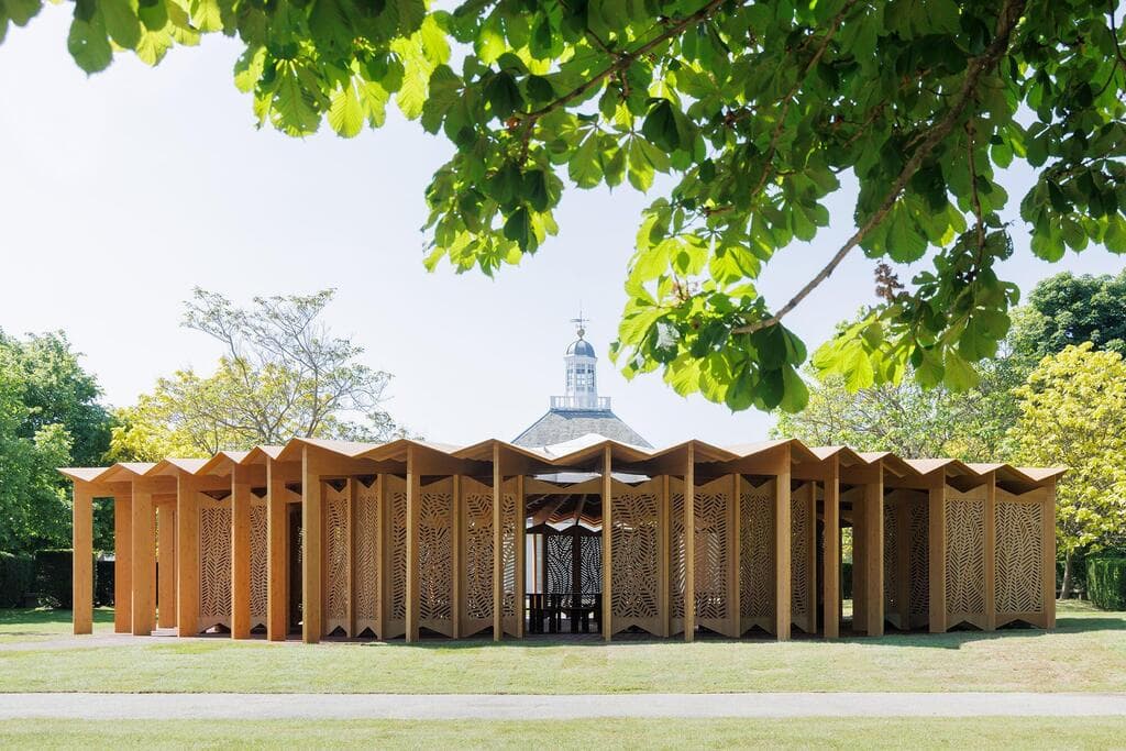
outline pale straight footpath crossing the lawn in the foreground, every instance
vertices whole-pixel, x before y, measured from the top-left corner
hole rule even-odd
[[[0,694],[0,719],[1120,716],[1126,694]]]

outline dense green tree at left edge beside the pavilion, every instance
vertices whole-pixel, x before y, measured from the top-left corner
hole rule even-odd
[[[0,332],[0,549],[70,545],[70,483],[57,467],[101,463],[110,417],[99,396],[63,333]],[[99,506],[96,545],[111,524]]]

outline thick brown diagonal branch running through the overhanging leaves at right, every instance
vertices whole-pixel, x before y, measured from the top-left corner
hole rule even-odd
[[[732,333],[754,333],[756,331],[760,331],[779,323],[786,315],[797,307],[802,301],[810,295],[810,293],[828,279],[832,272],[837,270],[837,267],[841,265],[844,258],[848,257],[849,252],[859,245],[868,233],[878,226],[884,218],[886,218],[887,214],[895,205],[895,202],[899,199],[900,194],[902,194],[903,189],[906,187],[908,181],[917,171],[919,171],[923,160],[930,155],[935,147],[941,143],[942,140],[946,138],[954,129],[954,126],[957,125],[958,119],[965,113],[966,107],[976,93],[977,84],[981,81],[982,74],[997,65],[1001,56],[1009,50],[1009,41],[1012,36],[1012,30],[1016,28],[1017,23],[1020,20],[1020,17],[1025,11],[1026,2],[1027,0],[1007,0],[1001,7],[1001,12],[997,20],[997,34],[992,44],[985,48],[984,53],[969,61],[965,81],[963,81],[962,89],[958,91],[958,96],[955,99],[954,105],[946,113],[946,116],[930,128],[927,137],[911,155],[911,159],[908,160],[908,163],[903,167],[903,170],[900,171],[899,177],[892,185],[892,189],[888,190],[884,200],[881,202],[879,207],[872,214],[872,216],[869,216],[860,229],[857,230],[835,253],[833,253],[833,257],[820,271],[817,271],[816,276],[810,279],[810,281],[807,281],[805,286],[803,286],[797,294],[789,299],[788,303],[778,309],[778,312],[769,318],[754,321],[743,327],[738,327],[732,330]]]

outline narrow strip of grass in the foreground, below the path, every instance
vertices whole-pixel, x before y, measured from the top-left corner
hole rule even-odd
[[[1028,717],[601,719],[0,722],[6,748],[1123,748],[1126,721]]]

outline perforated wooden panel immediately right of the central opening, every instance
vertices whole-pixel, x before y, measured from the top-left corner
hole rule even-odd
[[[613,627],[661,635],[660,498],[662,481],[613,483]]]

